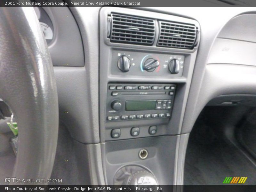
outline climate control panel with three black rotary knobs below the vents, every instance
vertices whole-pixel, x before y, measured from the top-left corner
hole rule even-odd
[[[185,56],[178,54],[113,50],[111,72],[116,75],[182,76],[184,61]]]

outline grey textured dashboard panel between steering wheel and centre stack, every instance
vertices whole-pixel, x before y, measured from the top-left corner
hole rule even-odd
[[[83,39],[84,67],[54,67],[59,96],[60,121],[71,136],[86,144],[99,143],[99,7],[73,7]],[[66,113],[67,112],[67,113]]]

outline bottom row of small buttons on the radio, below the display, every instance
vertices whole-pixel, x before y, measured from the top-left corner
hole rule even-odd
[[[154,113],[154,114],[145,114],[145,115],[142,115],[142,114],[139,114],[139,115],[122,115],[121,116],[121,120],[127,120],[127,119],[148,119],[148,118],[163,118],[163,117],[171,117],[171,114],[170,113]],[[119,116],[108,116],[107,117],[107,120],[108,121],[113,121],[113,120],[119,120]]]

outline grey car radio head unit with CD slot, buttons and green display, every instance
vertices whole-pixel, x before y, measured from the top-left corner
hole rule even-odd
[[[175,84],[109,83],[106,122],[171,118]]]

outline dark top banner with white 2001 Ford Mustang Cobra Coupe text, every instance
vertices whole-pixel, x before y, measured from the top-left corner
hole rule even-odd
[[[255,0],[1,0],[1,7],[253,7]]]

